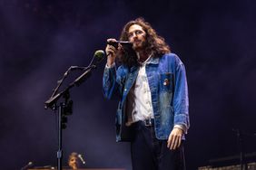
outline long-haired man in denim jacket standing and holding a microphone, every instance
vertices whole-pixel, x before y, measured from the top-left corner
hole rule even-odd
[[[120,99],[116,140],[131,141],[133,170],[183,170],[190,126],[184,65],[143,18],[125,24],[120,40],[133,46],[108,39],[103,73],[104,97]]]

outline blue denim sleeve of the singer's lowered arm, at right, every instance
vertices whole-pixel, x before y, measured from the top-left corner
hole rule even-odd
[[[181,125],[186,133],[190,127],[188,85],[184,64],[177,56],[174,67],[173,109],[174,125]]]

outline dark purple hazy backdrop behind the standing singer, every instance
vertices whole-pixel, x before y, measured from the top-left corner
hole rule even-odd
[[[44,109],[44,101],[64,71],[88,65],[107,38],[118,38],[123,24],[138,16],[186,66],[187,169],[237,155],[232,128],[256,132],[255,9],[252,0],[1,0],[0,169],[20,169],[29,161],[56,165],[56,114]],[[71,90],[74,114],[64,130],[64,165],[75,151],[87,167],[131,170],[129,143],[115,143],[116,101],[103,99],[104,64]],[[244,143],[246,153],[256,151],[255,137]]]

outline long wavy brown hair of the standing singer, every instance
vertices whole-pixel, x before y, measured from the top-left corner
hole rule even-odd
[[[133,24],[142,26],[143,31],[146,33],[146,53],[153,53],[153,57],[161,57],[162,54],[171,52],[169,45],[155,32],[151,24],[144,21],[143,17],[139,17],[124,25],[120,36],[120,41],[129,41],[128,31]],[[123,46],[123,51],[118,52],[118,58],[122,64],[128,67],[139,64],[136,53],[133,51],[133,49],[128,49],[125,46]]]

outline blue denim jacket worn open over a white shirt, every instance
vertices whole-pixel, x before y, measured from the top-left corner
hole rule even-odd
[[[119,99],[116,112],[116,140],[130,141],[131,129],[125,126],[127,116],[125,103],[133,87],[139,68],[105,68],[103,95],[106,99]],[[190,126],[189,99],[185,67],[174,53],[151,58],[146,64],[146,74],[152,94],[154,128],[158,139],[167,139],[174,125]]]

